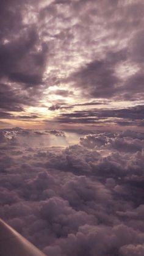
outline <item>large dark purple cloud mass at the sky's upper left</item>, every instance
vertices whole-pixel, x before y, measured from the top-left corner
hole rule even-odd
[[[35,24],[26,26],[23,22],[23,12],[29,4],[31,1],[2,3],[0,72],[10,81],[34,86],[41,82],[47,47],[40,42]]]

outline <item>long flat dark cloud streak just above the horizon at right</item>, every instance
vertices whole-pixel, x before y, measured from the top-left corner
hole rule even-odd
[[[132,125],[140,125],[143,115],[144,106],[137,105],[131,108],[121,109],[90,109],[85,111],[74,111],[67,114],[61,114],[56,118],[57,122],[63,123],[95,123],[95,122],[109,122],[109,118],[123,119],[121,121],[115,120],[120,125],[129,125],[129,120]],[[102,119],[102,120],[101,120]],[[103,120],[106,119],[106,120]],[[125,123],[124,123],[125,122]]]

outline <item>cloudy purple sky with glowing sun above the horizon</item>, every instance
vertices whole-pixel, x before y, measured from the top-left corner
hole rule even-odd
[[[143,130],[142,0],[1,0],[1,128]]]

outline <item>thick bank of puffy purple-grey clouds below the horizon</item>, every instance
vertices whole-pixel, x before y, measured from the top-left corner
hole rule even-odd
[[[49,256],[143,256],[144,134],[49,136],[0,131],[0,217]]]

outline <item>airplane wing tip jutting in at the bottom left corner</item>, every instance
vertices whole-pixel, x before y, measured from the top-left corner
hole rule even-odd
[[[0,219],[1,256],[46,256]]]

